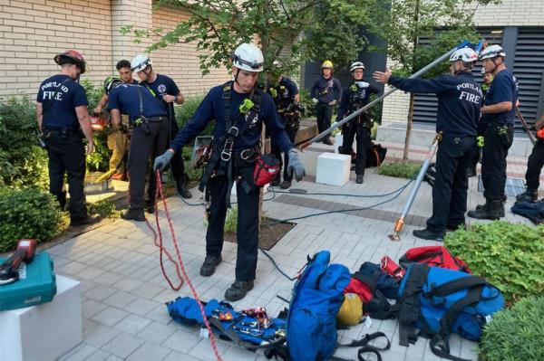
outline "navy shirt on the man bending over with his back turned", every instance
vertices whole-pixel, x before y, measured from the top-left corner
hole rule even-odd
[[[121,114],[128,114],[131,121],[140,118],[139,89],[141,90],[143,116],[145,118],[165,117],[167,115],[167,110],[162,106],[161,101],[155,98],[150,90],[141,85],[118,85],[115,89],[110,91],[108,109],[118,109],[121,111]]]

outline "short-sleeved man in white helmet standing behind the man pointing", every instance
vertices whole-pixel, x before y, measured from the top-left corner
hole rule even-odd
[[[485,71],[493,75],[490,90],[481,107],[481,125],[484,142],[481,150],[481,180],[485,204],[480,204],[469,216],[496,220],[504,216],[504,185],[506,184],[506,157],[514,141],[514,122],[518,86],[506,68],[506,53],[500,45],[491,45],[480,54]]]

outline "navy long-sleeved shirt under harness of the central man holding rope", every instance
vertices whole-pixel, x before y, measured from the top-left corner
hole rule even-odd
[[[246,120],[241,117],[239,119],[238,108],[243,100],[249,98],[249,93],[241,94],[234,90],[231,91],[230,99],[230,119],[232,125],[237,125],[238,128],[244,126]],[[208,123],[215,119],[215,128],[213,131],[214,137],[221,137],[225,135],[228,129],[225,125],[225,105],[223,100],[223,85],[213,87],[209,90],[204,100],[199,105],[199,108],[189,119],[189,122],[180,129],[180,133],[174,140],[172,140],[170,147],[176,152],[179,152],[181,147],[187,145],[192,138],[195,138],[199,133],[206,128]],[[267,132],[271,135],[273,141],[275,141],[284,152],[288,152],[293,147],[291,141],[287,137],[282,123],[280,122],[279,115],[277,114],[276,105],[272,97],[263,93],[262,104],[259,112],[259,122],[257,124],[251,124],[246,127],[244,132],[238,136],[234,142],[234,150],[240,151],[250,147],[255,147],[260,140],[262,121],[267,126]],[[237,121],[238,120],[238,121]]]

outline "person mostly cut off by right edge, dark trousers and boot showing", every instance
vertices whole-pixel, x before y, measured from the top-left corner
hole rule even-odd
[[[544,166],[544,115],[535,124],[537,129],[537,142],[530,153],[525,173],[525,185],[527,189],[516,196],[518,202],[537,202],[539,199],[540,172]]]

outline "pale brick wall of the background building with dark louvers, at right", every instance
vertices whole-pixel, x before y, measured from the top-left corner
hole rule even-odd
[[[544,26],[544,0],[502,0],[500,5],[480,6],[476,26]],[[389,64],[389,61],[388,61]],[[408,116],[410,97],[397,90],[384,100],[382,123],[402,123]]]

